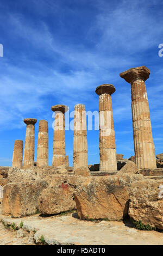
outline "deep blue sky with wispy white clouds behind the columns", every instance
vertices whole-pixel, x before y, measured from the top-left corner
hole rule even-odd
[[[163,152],[163,2],[160,0],[1,0],[0,166],[10,166],[15,139],[25,140],[24,118],[49,124],[52,164],[54,118],[51,106],[77,103],[98,111],[99,84],[114,84],[112,108],[117,154],[134,155],[130,84],[120,72],[145,65],[155,153]],[[71,119],[70,119],[71,120]],[[98,131],[87,132],[89,164],[99,163]],[[66,131],[73,157],[73,131]]]

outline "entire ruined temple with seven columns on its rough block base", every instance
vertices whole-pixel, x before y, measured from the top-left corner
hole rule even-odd
[[[77,209],[82,220],[134,221],[163,230],[163,154],[155,159],[151,119],[145,81],[150,71],[146,66],[131,68],[120,74],[131,84],[131,109],[135,156],[123,159],[116,154],[112,84],[96,88],[99,95],[100,163],[87,164],[87,130],[85,106],[74,107],[73,168],[65,153],[65,112],[68,107],[55,105],[53,161],[48,166],[48,123],[40,120],[37,160],[34,166],[36,119],[24,119],[26,141],[16,140],[12,167],[0,169],[3,186],[2,214],[15,218],[43,215]],[[108,123],[109,122],[109,123]],[[82,129],[81,129],[82,127]]]

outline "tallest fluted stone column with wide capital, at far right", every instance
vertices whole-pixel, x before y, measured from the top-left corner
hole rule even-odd
[[[133,115],[133,137],[135,162],[139,169],[156,168],[155,149],[145,81],[150,75],[146,66],[140,66],[120,74],[131,84],[131,108]]]

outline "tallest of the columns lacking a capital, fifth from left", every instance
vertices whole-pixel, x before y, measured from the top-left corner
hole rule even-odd
[[[89,175],[87,167],[86,114],[83,104],[77,104],[74,107],[73,170],[78,175]]]

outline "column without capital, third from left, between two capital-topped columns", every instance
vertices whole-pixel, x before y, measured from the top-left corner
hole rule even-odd
[[[46,120],[39,122],[37,166],[48,166],[48,122]]]

